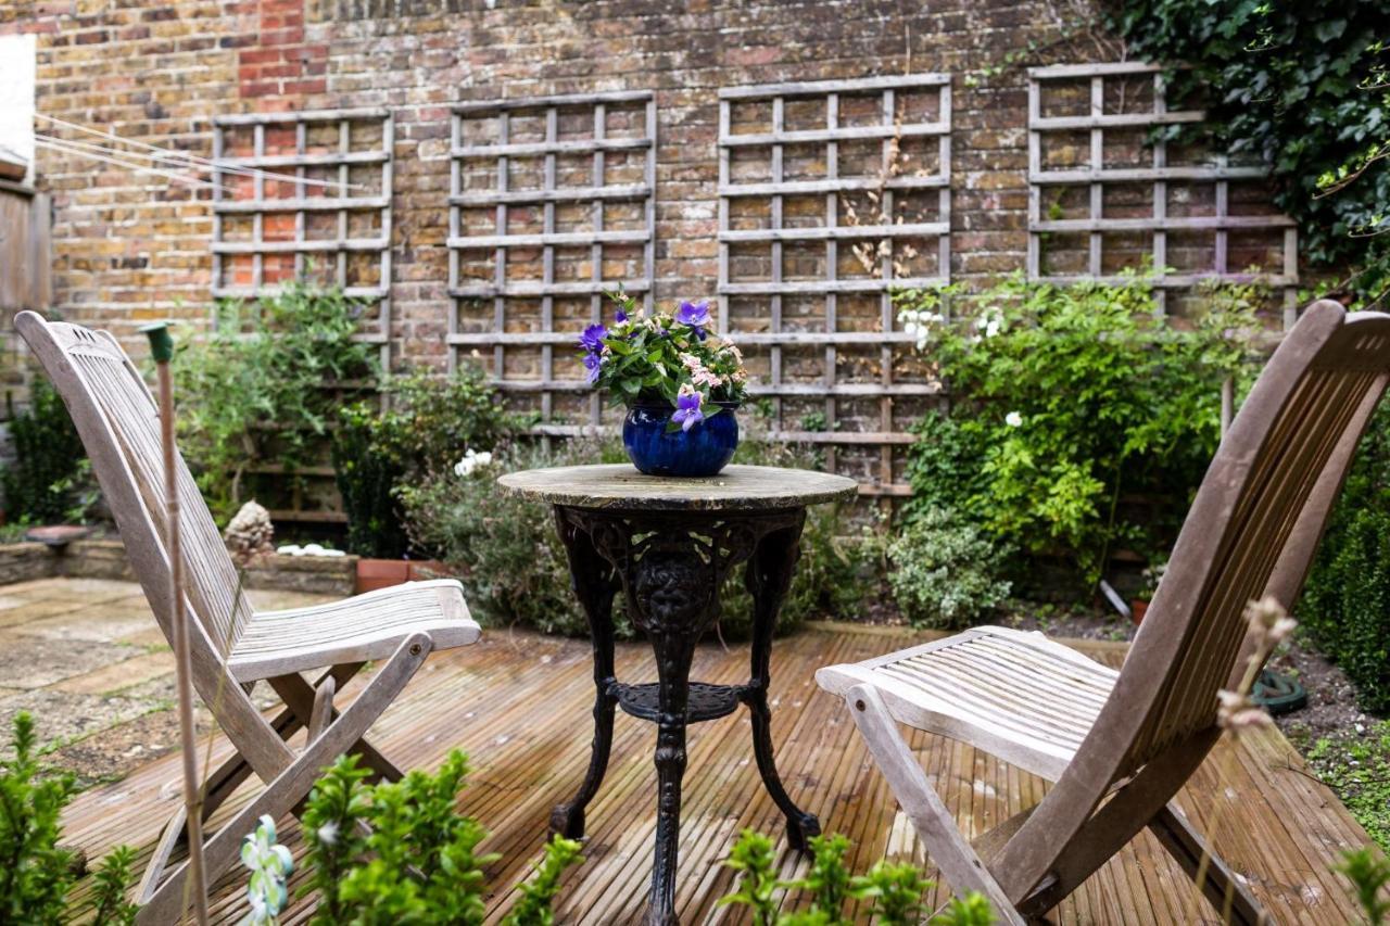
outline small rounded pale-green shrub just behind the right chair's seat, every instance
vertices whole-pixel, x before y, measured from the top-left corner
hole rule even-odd
[[[1009,596],[1008,551],[959,512],[931,507],[888,544],[888,584],[913,627],[959,630]]]

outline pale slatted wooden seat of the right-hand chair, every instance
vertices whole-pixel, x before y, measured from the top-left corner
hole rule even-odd
[[[873,685],[894,719],[970,742],[1055,781],[1119,673],[1040,633],[974,627],[945,640],[816,672],[844,695]]]

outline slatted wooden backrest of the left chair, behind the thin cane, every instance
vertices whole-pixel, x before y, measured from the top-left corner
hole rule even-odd
[[[44,321],[32,311],[15,317],[15,330],[68,406],[131,567],[160,628],[172,641],[164,469],[154,398],[107,331]],[[288,754],[227,669],[227,653],[253,612],[182,456],[178,485],[185,598],[196,622],[189,640],[193,684],[238,749],[279,767]]]

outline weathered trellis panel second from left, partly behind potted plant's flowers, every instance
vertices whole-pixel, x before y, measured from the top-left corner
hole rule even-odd
[[[491,366],[513,406],[541,412],[538,432],[598,425],[599,396],[571,348],[612,314],[603,293],[619,284],[652,304],[655,97],[456,106],[452,159],[450,360],[473,353]]]

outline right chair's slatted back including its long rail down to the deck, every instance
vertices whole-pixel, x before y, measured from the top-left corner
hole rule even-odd
[[[1095,723],[990,863],[1013,902],[1048,908],[1155,820],[1183,830],[1165,806],[1219,737],[1216,692],[1251,649],[1245,605],[1268,592],[1293,606],[1387,381],[1387,314],[1322,300],[1287,334],[1216,450]],[[1182,848],[1197,870],[1201,847]]]

